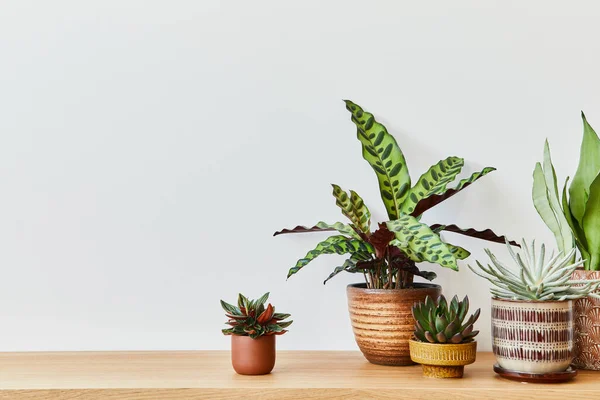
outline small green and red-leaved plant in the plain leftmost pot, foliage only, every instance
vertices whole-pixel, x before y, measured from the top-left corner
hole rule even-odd
[[[276,313],[275,307],[270,303],[265,307],[269,293],[265,293],[257,300],[249,300],[243,294],[238,295],[238,306],[233,306],[221,300],[221,307],[226,312],[227,325],[231,328],[223,329],[224,335],[250,336],[256,339],[260,336],[283,335],[293,321],[283,321],[290,314]]]

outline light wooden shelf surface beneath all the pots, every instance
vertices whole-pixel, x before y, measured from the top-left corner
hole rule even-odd
[[[280,351],[273,373],[241,376],[228,351],[0,353],[0,399],[600,399],[600,372],[571,382],[498,377],[479,353],[463,379],[369,364],[359,352]]]

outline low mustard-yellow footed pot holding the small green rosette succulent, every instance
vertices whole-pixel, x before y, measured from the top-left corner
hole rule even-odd
[[[473,364],[477,342],[459,344],[424,343],[410,340],[410,358],[423,365],[431,378],[462,378],[465,365]]]

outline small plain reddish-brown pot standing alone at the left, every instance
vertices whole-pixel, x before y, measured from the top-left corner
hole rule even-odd
[[[275,335],[231,336],[231,364],[240,375],[265,375],[275,366]]]

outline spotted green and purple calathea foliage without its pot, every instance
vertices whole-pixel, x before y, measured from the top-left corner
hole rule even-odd
[[[362,156],[371,165],[377,180],[381,199],[389,221],[379,223],[371,231],[371,213],[363,199],[354,191],[346,192],[333,186],[336,205],[349,223],[318,222],[312,227],[297,226],[283,229],[284,233],[337,231],[309,251],[288,272],[288,278],[322,254],[347,255],[346,261],[325,280],[342,271],[363,273],[367,287],[398,289],[410,287],[414,275],[432,280],[436,274],[421,271],[416,263],[428,261],[443,267],[458,269],[457,260],[469,256],[461,247],[445,242],[440,232],[449,231],[492,242],[503,243],[505,238],[489,229],[477,231],[456,225],[428,225],[421,221],[422,214],[467,188],[486,174],[494,171],[487,167],[462,179],[456,186],[448,187],[464,166],[459,157],[448,157],[431,166],[416,183],[411,177],[402,150],[385,126],[373,114],[346,100],[346,108],[357,128],[357,138],[362,145]],[[516,244],[516,243],[515,243]]]

